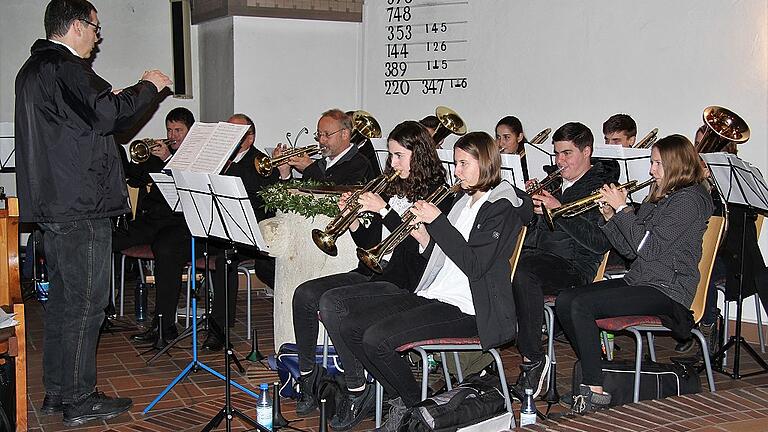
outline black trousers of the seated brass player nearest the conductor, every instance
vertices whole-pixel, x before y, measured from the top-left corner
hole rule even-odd
[[[163,314],[163,328],[176,321],[181,292],[181,273],[191,258],[190,234],[181,216],[153,219],[140,217],[128,222],[127,229],[112,234],[112,250],[149,244],[155,255],[155,316]]]

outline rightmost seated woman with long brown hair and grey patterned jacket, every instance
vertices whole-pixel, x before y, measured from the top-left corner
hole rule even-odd
[[[626,315],[690,316],[699,282],[701,242],[714,205],[701,184],[704,170],[691,142],[671,135],[651,150],[656,182],[635,214],[627,193],[603,186],[600,227],[622,255],[634,258],[623,279],[596,282],[557,297],[557,317],[581,361],[583,379],[572,409],[584,414],[608,406],[603,391],[595,320]],[[692,321],[692,320],[691,320]],[[690,325],[693,323],[691,322]]]

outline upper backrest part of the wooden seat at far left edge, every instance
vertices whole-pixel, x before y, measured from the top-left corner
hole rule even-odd
[[[19,285],[19,200],[8,197],[0,209],[0,305],[22,303]]]

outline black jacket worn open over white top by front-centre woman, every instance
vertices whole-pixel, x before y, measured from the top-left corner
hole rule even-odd
[[[434,243],[469,279],[480,343],[486,350],[511,341],[517,334],[509,258],[520,229],[533,214],[530,197],[506,181],[489,193],[491,196],[480,207],[468,240],[464,240],[446,214],[427,225]],[[456,201],[462,202],[461,198]],[[432,264],[430,257],[420,287],[439,272]]]

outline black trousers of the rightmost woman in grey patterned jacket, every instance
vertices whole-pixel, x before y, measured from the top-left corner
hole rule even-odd
[[[595,282],[557,297],[557,318],[581,361],[581,384],[603,385],[600,329],[595,320],[627,315],[674,316],[679,307],[656,288],[629,286],[624,279]]]

